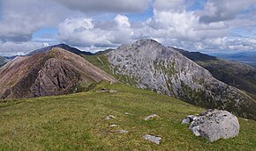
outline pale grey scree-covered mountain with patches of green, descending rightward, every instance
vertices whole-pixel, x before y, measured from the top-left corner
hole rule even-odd
[[[120,81],[180,98],[190,104],[233,111],[256,119],[256,103],[241,90],[216,80],[205,68],[154,40],[139,40],[109,52]]]

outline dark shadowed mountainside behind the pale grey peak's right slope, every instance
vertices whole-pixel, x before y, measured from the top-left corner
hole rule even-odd
[[[253,94],[252,96],[256,95],[256,68],[237,61],[217,59],[199,52],[188,52],[182,49],[177,49],[177,51],[206,68],[223,83],[245,90]]]

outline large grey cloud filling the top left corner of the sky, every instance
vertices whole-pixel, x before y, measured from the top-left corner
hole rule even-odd
[[[45,0],[8,0],[1,6],[0,40],[29,41],[42,27],[55,27],[69,13],[66,9]]]

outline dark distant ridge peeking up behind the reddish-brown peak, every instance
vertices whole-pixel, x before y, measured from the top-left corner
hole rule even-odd
[[[51,50],[54,47],[59,47],[62,48],[64,50],[67,50],[73,54],[85,54],[85,55],[92,55],[92,53],[90,52],[84,52],[84,51],[80,51],[78,48],[75,47],[70,47],[68,45],[65,44],[58,44],[58,45],[54,45],[54,46],[49,46],[49,47],[43,47],[41,49],[37,49],[34,50],[33,52],[26,54],[27,56],[33,55],[33,54],[38,54],[38,53],[42,53],[42,52],[48,52],[49,50]]]

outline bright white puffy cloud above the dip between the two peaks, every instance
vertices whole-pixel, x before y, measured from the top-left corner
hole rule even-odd
[[[113,27],[106,29],[95,25],[92,18],[67,18],[58,27],[58,37],[79,47],[114,47],[129,41],[132,36],[129,19],[117,15],[111,22]]]

